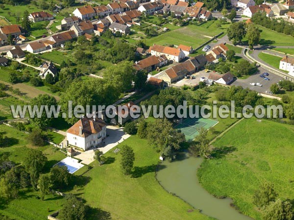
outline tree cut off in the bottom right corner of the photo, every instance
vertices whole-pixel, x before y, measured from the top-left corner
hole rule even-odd
[[[292,204],[289,201],[282,201],[280,198],[271,201],[264,211],[264,220],[292,220]]]

